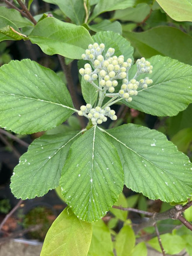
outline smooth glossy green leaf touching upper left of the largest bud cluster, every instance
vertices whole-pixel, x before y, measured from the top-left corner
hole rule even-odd
[[[53,17],[37,23],[29,35],[33,44],[38,44],[48,55],[60,54],[67,58],[79,59],[93,40],[83,26],[76,26]]]

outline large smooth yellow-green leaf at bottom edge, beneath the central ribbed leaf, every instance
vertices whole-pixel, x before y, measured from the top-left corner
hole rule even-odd
[[[65,208],[47,232],[40,256],[87,256],[92,227]]]

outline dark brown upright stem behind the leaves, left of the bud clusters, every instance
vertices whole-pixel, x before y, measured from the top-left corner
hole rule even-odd
[[[74,107],[76,109],[79,109],[81,103],[79,102],[79,99],[78,99],[78,97],[76,95],[76,88],[75,88],[75,85],[73,83],[70,67],[69,67],[69,65],[67,65],[65,63],[65,58],[63,56],[61,56],[59,54],[57,56],[58,56],[58,60],[59,60],[59,62],[61,64],[61,68],[62,68],[62,70],[63,70],[63,72],[64,72],[64,74],[66,76],[67,88],[68,88],[68,90],[70,92],[70,95],[71,95]],[[77,115],[77,117],[78,117],[78,119],[79,119],[79,121],[81,123],[81,127],[84,128],[86,126],[86,124],[85,124],[83,118],[81,116],[79,116],[79,115]]]

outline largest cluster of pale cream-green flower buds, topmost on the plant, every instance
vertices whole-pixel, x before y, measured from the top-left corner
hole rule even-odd
[[[85,68],[80,69],[79,73],[89,82],[97,79],[96,76],[98,75],[99,85],[105,88],[105,90],[108,90],[109,93],[113,93],[115,87],[118,85],[117,79],[125,79],[127,77],[128,70],[131,68],[132,64],[131,58],[124,61],[123,55],[112,57],[115,52],[113,48],[108,49],[104,58],[102,55],[105,49],[104,44],[99,45],[94,43],[93,45],[90,44],[88,48],[85,54],[82,54],[82,58],[91,61],[95,70],[93,72],[91,69],[86,71]]]

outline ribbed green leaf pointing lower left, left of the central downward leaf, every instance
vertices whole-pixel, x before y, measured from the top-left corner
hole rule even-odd
[[[11,189],[15,197],[35,198],[55,189],[69,148],[80,134],[74,131],[65,135],[43,135],[34,140],[14,169]]]

